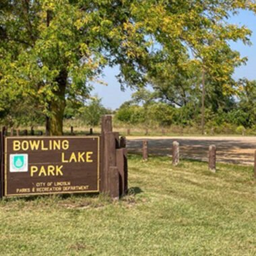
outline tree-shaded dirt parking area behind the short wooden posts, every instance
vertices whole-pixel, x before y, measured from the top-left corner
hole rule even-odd
[[[179,141],[181,158],[207,161],[210,145],[217,147],[217,161],[253,165],[256,136],[253,137],[127,137],[131,153],[141,152],[142,141],[148,140],[150,154],[171,155],[172,142]]]

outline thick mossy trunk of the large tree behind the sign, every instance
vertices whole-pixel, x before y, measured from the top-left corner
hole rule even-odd
[[[65,89],[67,86],[67,71],[62,70],[56,79],[59,88],[54,92],[55,100],[49,104],[51,115],[46,117],[46,134],[63,135],[63,115],[65,110]]]

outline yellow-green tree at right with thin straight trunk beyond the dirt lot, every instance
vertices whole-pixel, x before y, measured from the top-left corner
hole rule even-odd
[[[183,106],[191,100],[199,102],[197,93],[201,84],[201,129],[204,133],[207,93],[218,91],[222,95],[236,94],[238,83],[234,82],[232,74],[235,67],[247,61],[230,49],[229,41],[243,40],[245,44],[249,44],[248,36],[251,32],[244,26],[238,28],[229,24],[228,17],[230,13],[235,14],[237,8],[255,11],[255,3],[195,1],[192,5],[194,13],[187,13],[187,20],[191,21],[191,26],[187,27],[189,33],[182,31],[179,34],[181,42],[185,44],[185,51],[183,46],[183,51],[177,56],[168,54],[169,51],[166,54],[160,51],[162,61],[158,61],[158,65],[150,69],[149,76],[160,98],[175,106]],[[219,7],[222,11],[217,11]],[[216,88],[208,88],[208,84]]]

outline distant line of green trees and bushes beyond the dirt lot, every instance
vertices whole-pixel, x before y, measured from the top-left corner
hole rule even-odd
[[[256,81],[246,79],[240,82],[241,91],[227,96],[206,90],[205,93],[205,132],[239,133],[245,130],[256,134]],[[178,97],[175,97],[177,100]],[[188,99],[189,98],[189,99]],[[125,102],[115,113],[115,120],[125,125],[147,127],[201,128],[200,93],[184,96],[177,104],[160,91],[139,90],[132,100]]]

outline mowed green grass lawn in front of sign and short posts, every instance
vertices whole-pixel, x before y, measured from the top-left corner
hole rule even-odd
[[[251,167],[129,156],[129,195],[0,203],[0,255],[256,255]]]

